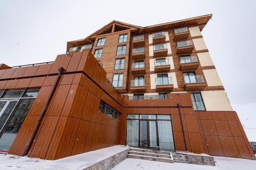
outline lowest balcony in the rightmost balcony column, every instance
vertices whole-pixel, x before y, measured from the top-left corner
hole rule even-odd
[[[184,76],[185,90],[202,90],[206,87],[203,75]]]

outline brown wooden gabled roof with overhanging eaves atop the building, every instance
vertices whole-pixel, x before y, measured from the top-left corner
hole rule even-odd
[[[118,32],[118,29],[116,30],[116,28],[119,28],[121,31],[130,30],[135,34],[144,34],[144,33],[151,33],[151,32],[156,32],[161,30],[176,29],[176,28],[182,28],[182,27],[193,27],[193,26],[199,26],[200,30],[202,31],[204,26],[207,24],[207,22],[211,17],[212,17],[212,14],[208,14],[208,15],[202,15],[202,16],[197,16],[193,18],[187,18],[187,19],[182,19],[182,20],[177,20],[172,22],[160,23],[158,25],[147,26],[147,27],[135,26],[129,23],[113,20],[110,23],[108,23],[108,25],[105,25],[104,27],[102,27],[101,29],[97,30],[96,32],[94,32],[93,34],[89,35],[84,39],[67,42],[67,51],[69,50],[70,47],[73,47],[73,46],[93,43],[93,40],[99,35]]]

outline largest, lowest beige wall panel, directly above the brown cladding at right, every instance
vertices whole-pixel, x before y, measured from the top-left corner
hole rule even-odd
[[[201,91],[206,111],[233,111],[224,90]]]

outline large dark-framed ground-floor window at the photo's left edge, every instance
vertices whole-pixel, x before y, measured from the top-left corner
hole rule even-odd
[[[0,99],[0,151],[8,151],[39,90],[5,91]]]

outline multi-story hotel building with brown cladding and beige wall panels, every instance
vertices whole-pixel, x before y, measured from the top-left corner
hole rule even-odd
[[[58,159],[127,144],[255,159],[201,34],[211,16],[114,20],[54,62],[0,65],[0,150]]]

